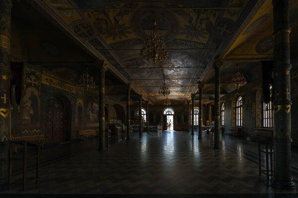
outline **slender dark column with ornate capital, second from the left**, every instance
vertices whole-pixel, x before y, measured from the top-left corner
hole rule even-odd
[[[105,72],[108,65],[104,61],[98,61],[96,67],[99,69],[99,82],[98,82],[98,108],[99,108],[99,133],[98,133],[98,150],[105,148],[105,116],[104,116],[104,95],[105,95]]]

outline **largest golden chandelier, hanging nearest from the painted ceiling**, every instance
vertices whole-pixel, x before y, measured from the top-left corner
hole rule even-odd
[[[142,47],[143,46],[141,44],[141,48]],[[147,59],[148,61],[152,60],[154,64],[157,60],[160,62],[169,56],[169,53],[166,51],[166,47],[163,43],[163,37],[162,41],[160,41],[159,33],[156,32],[156,21],[153,22],[153,32],[151,33],[151,38],[149,40],[147,36],[144,47],[140,53],[144,59]]]

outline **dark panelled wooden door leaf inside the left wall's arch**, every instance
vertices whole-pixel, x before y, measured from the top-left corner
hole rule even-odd
[[[59,101],[50,99],[47,111],[47,142],[66,140],[66,111]]]

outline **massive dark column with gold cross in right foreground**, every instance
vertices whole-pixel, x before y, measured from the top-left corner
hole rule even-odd
[[[291,86],[289,0],[272,0],[274,37],[274,176],[273,186],[294,190],[291,175]]]

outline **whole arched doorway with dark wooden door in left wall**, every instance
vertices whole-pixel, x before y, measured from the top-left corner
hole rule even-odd
[[[47,101],[47,143],[71,139],[71,105],[60,95],[52,95]]]

